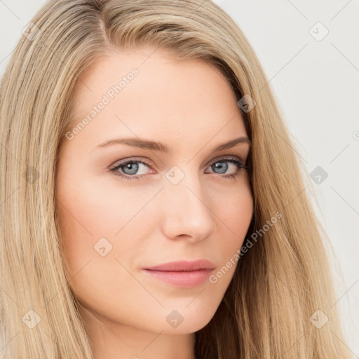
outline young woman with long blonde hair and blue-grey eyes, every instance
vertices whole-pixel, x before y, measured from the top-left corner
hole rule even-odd
[[[48,1],[0,101],[2,358],[349,358],[282,115],[221,8]]]

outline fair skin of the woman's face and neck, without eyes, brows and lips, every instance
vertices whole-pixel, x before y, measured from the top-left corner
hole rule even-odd
[[[224,170],[214,165],[223,156],[245,163],[250,151],[242,143],[213,152],[248,135],[229,82],[201,60],[153,52],[114,52],[91,65],[76,87],[74,126],[130,69],[139,74],[60,145],[55,198],[65,269],[96,359],[195,358],[194,333],[214,316],[237,265],[217,283],[194,287],[165,283],[142,268],[208,259],[217,273],[241,248],[252,218],[248,172],[228,161],[219,163]],[[96,147],[119,137],[162,142],[170,151]],[[142,178],[110,171],[125,158],[149,161],[137,172],[117,170]],[[177,184],[165,177],[173,165],[184,174]],[[102,257],[94,245],[103,237],[112,249]],[[177,327],[166,320],[174,310],[183,317]]]

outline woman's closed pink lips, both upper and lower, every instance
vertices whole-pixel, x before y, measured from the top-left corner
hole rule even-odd
[[[144,272],[179,287],[194,287],[208,279],[214,268],[215,265],[208,260],[199,259],[194,262],[180,261],[151,266],[144,268]]]

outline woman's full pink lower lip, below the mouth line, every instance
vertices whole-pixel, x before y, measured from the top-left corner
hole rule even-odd
[[[197,271],[151,271],[144,269],[144,271],[154,278],[177,285],[177,287],[194,287],[205,282],[212,269],[198,269]]]

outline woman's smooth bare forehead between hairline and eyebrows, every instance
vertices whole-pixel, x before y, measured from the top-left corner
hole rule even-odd
[[[79,79],[72,116],[74,126],[87,118],[80,135],[97,143],[114,135],[164,142],[217,135],[220,142],[246,134],[236,96],[219,69],[161,49],[113,53],[93,63]]]

